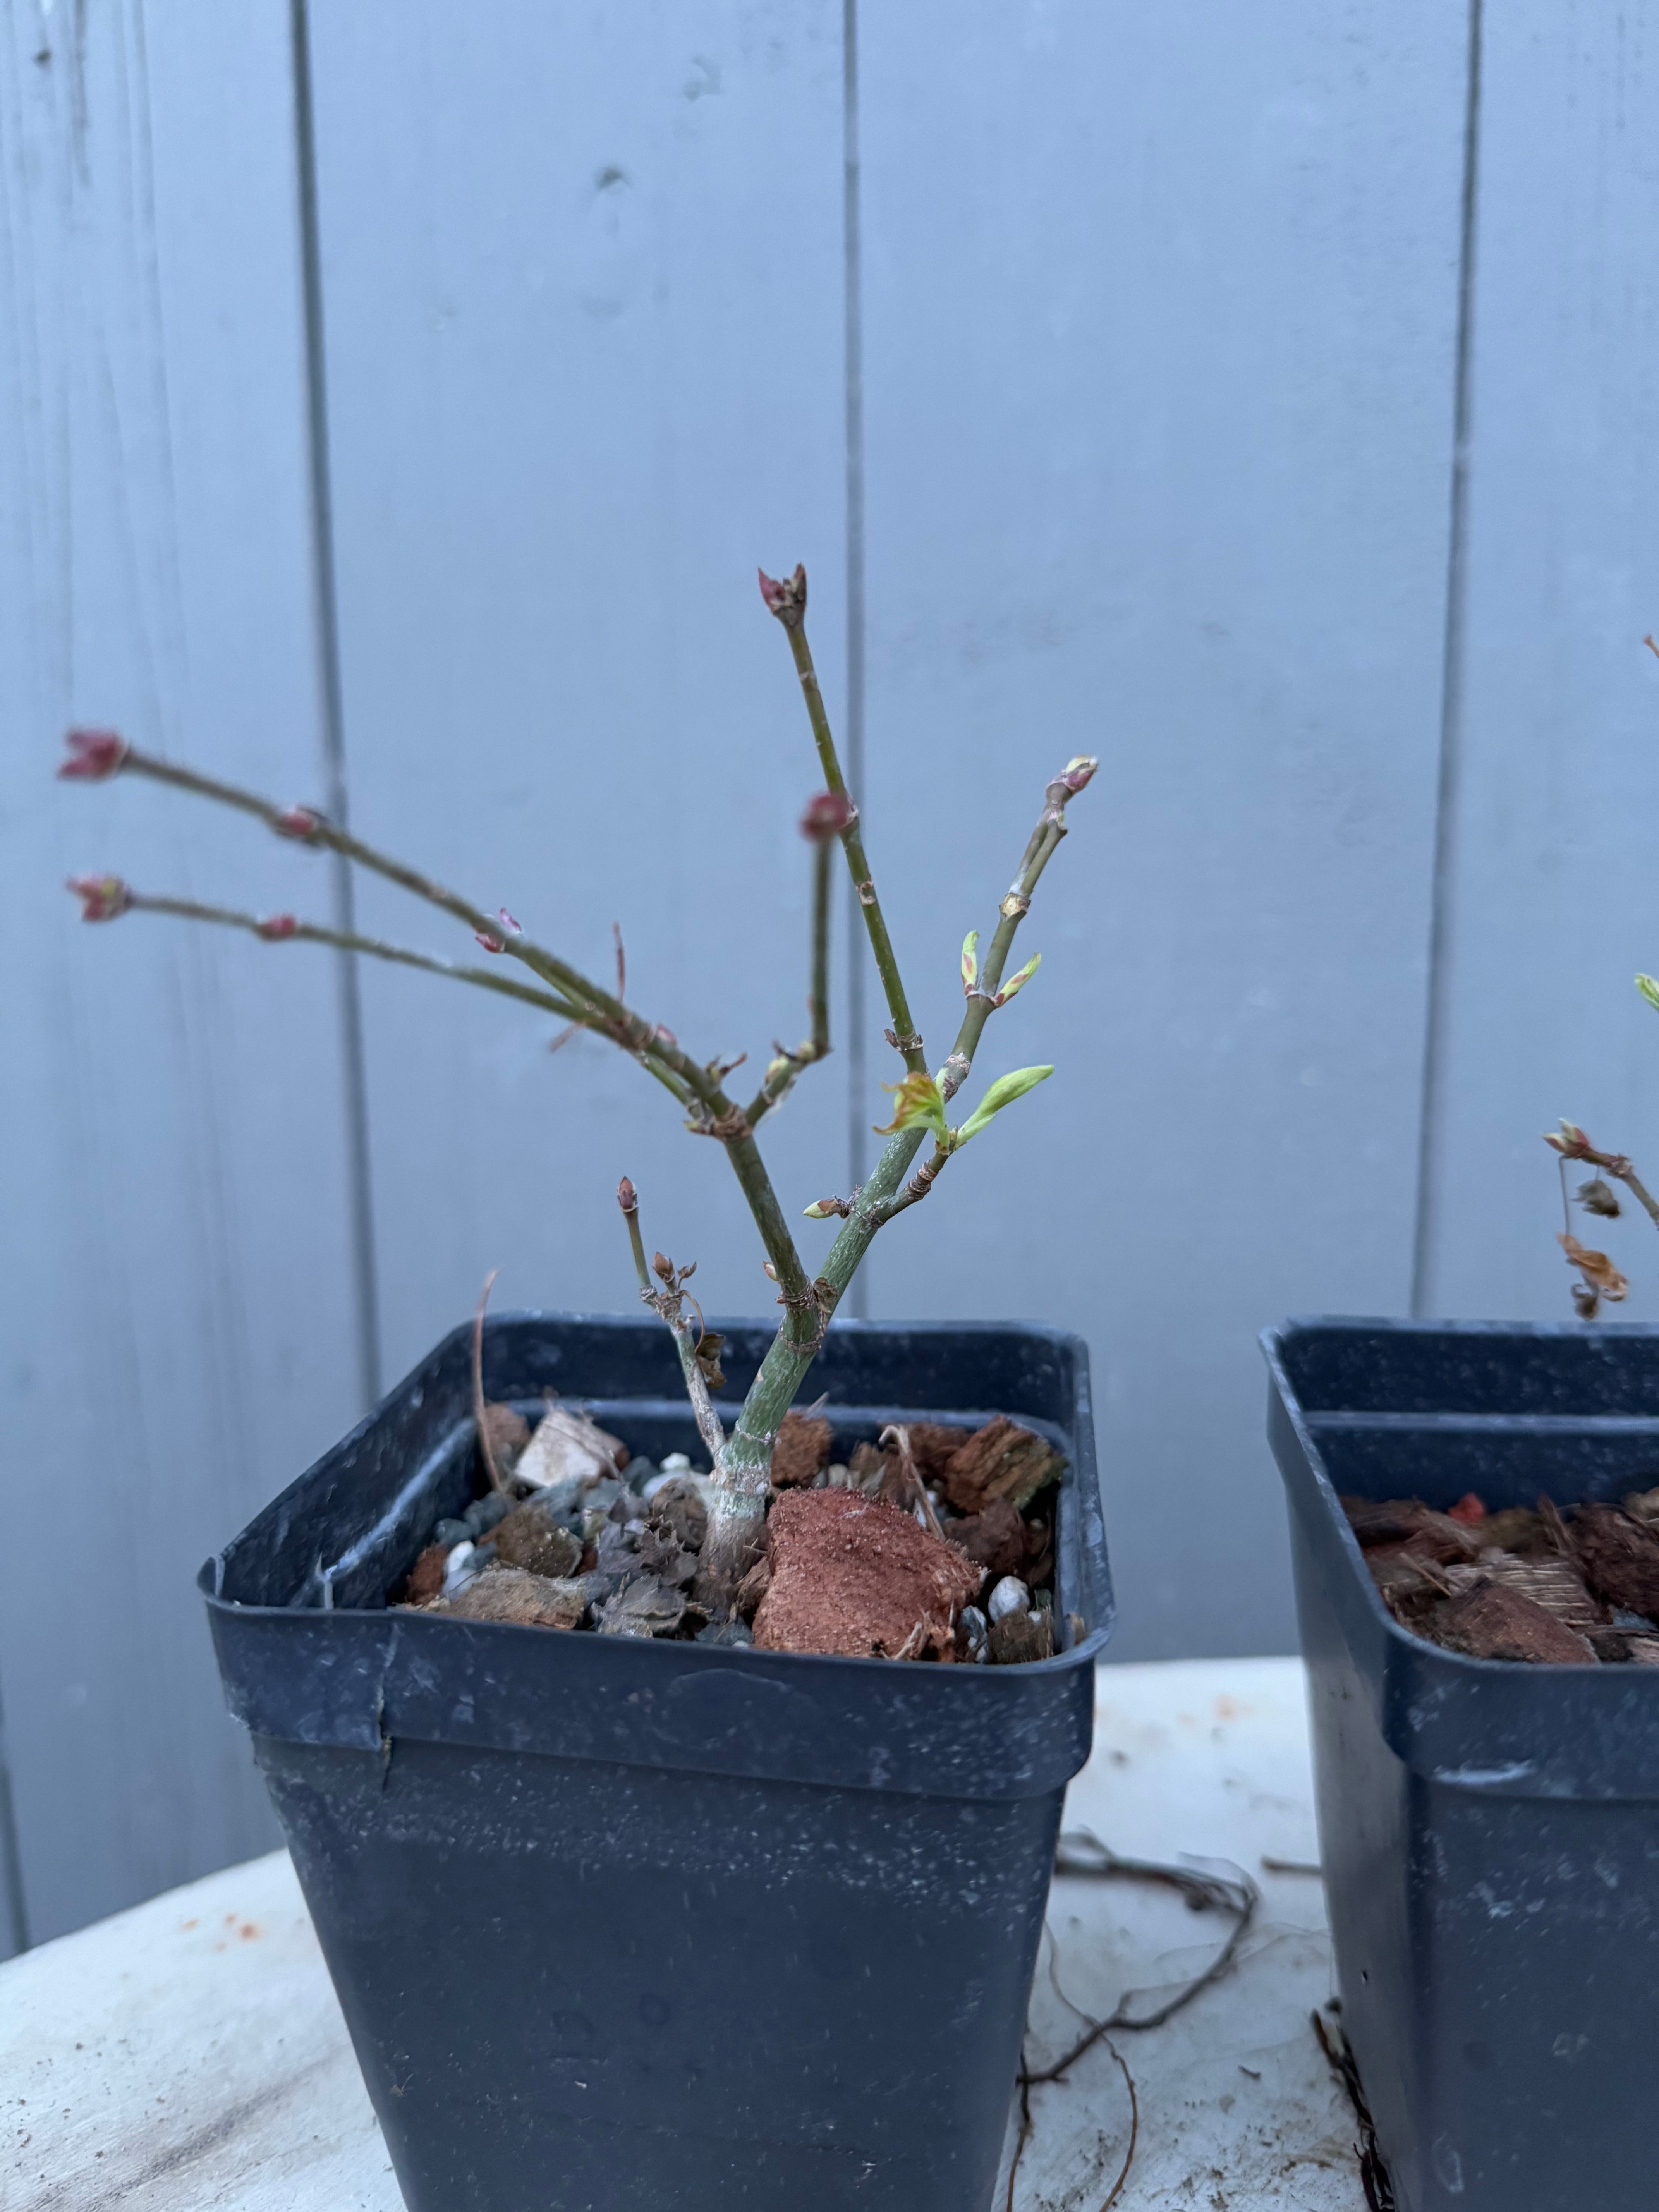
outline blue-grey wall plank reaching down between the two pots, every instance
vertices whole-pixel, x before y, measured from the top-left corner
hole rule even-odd
[[[863,15],[867,827],[929,1044],[1073,752],[982,1075],[1057,1075],[876,1312],[1077,1327],[1121,1657],[1294,1637],[1254,1332],[1409,1287],[1464,24]],[[872,1115],[874,1119],[874,1115]]]

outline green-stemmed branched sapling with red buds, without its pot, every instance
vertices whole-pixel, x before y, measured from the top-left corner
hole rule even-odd
[[[1013,885],[998,907],[991,942],[980,953],[978,931],[969,931],[962,945],[962,1018],[949,1055],[936,1073],[929,1071],[876,894],[858,805],[852,792],[847,792],[841,772],[841,759],[807,646],[805,568],[796,568],[794,575],[781,582],[763,573],[761,595],[790,641],[818,752],[823,790],[810,801],[801,818],[801,832],[812,845],[814,867],[807,1035],[796,1046],[774,1046],[759,1088],[748,1099],[732,1097],[726,1086],[741,1062],[701,1062],[679,1044],[675,1031],[628,1006],[619,933],[615,989],[604,989],[568,960],[531,938],[504,907],[498,907],[493,914],[478,907],[431,876],[367,845],[343,825],[330,823],[314,807],[281,807],[257,792],[139,752],[108,730],[71,732],[69,759],[60,770],[62,776],[73,781],[102,781],[115,774],[148,776],[175,790],[195,792],[201,799],[212,799],[219,805],[250,814],[276,836],[334,852],[354,867],[383,876],[387,883],[398,885],[398,889],[409,891],[414,898],[460,922],[491,958],[491,964],[445,960],[434,953],[392,945],[383,938],[303,922],[292,914],[261,918],[234,907],[150,896],[135,891],[119,876],[80,876],[71,880],[71,889],[82,900],[84,920],[108,922],[122,914],[173,914],[184,920],[246,929],[268,945],[332,945],[349,953],[425,969],[434,975],[447,975],[453,982],[476,984],[478,989],[522,1000],[564,1024],[553,1040],[555,1044],[575,1031],[608,1037],[672,1093],[686,1113],[686,1126],[692,1135],[710,1137],[721,1146],[754,1217],[761,1245],[765,1248],[765,1272],[776,1283],[776,1303],[783,1307],[779,1332],[730,1429],[717,1409],[717,1394],[723,1389],[719,1371],[721,1345],[703,1327],[701,1307],[686,1287],[695,1261],[675,1265],[661,1252],[646,1259],[646,1243],[639,1228],[639,1197],[626,1179],[617,1190],[633,1248],[639,1296],[661,1318],[675,1340],[686,1394],[712,1464],[712,1504],[697,1595],[717,1617],[728,1613],[732,1593],[761,1542],[770,1500],[772,1447],[779,1425],[794,1402],[801,1380],[823,1343],[830,1316],[845,1296],[872,1241],[896,1214],[931,1192],[947,1161],[978,1137],[1002,1108],[1051,1073],[1046,1066],[1018,1068],[993,1082],[973,1113],[960,1124],[953,1126],[947,1117],[949,1102],[973,1071],[987,1020],[1035,973],[1037,960],[1033,958],[1004,982],[1020,922],[1031,907],[1044,867],[1066,834],[1066,803],[1084,790],[1097,765],[1086,757],[1073,759],[1046,785],[1037,825],[1026,841]],[[761,1157],[757,1130],[790,1095],[801,1075],[830,1053],[830,887],[832,852],[836,845],[843,852],[852,896],[858,900],[858,911],[869,936],[869,949],[887,1000],[887,1042],[898,1053],[902,1073],[896,1084],[887,1086],[894,1091],[894,1117],[880,1130],[887,1144],[869,1181],[847,1197],[823,1197],[805,1208],[807,1219],[821,1221],[834,1217],[841,1221],[841,1230],[821,1270],[810,1274]],[[916,1166],[916,1155],[929,1137],[929,1157]]]

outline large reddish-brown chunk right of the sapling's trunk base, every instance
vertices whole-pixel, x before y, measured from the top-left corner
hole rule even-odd
[[[754,1644],[847,1659],[953,1657],[958,1606],[982,1571],[885,1498],[785,1491],[765,1524],[772,1582]]]

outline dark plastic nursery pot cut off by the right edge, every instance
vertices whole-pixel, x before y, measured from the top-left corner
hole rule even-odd
[[[1343,2024],[1402,2212],[1659,2205],[1659,1670],[1464,1659],[1338,1504],[1659,1482],[1659,1329],[1292,1321],[1290,1493]]]

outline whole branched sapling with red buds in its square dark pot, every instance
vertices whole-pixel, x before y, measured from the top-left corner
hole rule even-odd
[[[115,876],[75,880],[86,920],[336,945],[611,1037],[726,1150],[779,1285],[781,1323],[710,1329],[692,1267],[648,1256],[624,1181],[637,1318],[487,1323],[480,1303],[204,1568],[228,1699],[411,2212],[982,2212],[1062,1794],[1088,1754],[1113,1599],[1082,1343],[834,1316],[872,1239],[1048,1075],[1006,1075],[949,1119],[991,1013],[1037,967],[1006,973],[1095,761],[1048,783],[984,953],[978,933],[962,947],[962,1020],[929,1071],[805,573],[761,593],[825,787],[803,818],[810,1035],[748,1099],[730,1064],[633,1011],[622,975],[597,984],[504,909],[312,807],[71,734],[64,774],[146,774],[252,814],[411,891],[487,958]],[[902,1068],[869,1181],[807,1208],[841,1223],[810,1270],[757,1130],[830,1051],[834,845]],[[807,1374],[823,1396],[796,1413]]]

